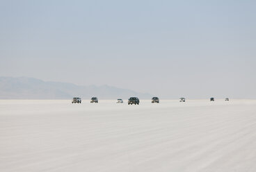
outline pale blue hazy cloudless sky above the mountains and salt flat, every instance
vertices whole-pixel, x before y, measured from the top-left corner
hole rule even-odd
[[[0,1],[0,76],[256,98],[256,1]]]

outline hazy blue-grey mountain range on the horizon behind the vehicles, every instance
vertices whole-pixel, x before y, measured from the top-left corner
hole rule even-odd
[[[127,99],[130,96],[151,98],[152,95],[109,85],[79,86],[72,83],[45,82],[36,78],[0,77],[0,99],[70,99],[79,96],[90,99]]]

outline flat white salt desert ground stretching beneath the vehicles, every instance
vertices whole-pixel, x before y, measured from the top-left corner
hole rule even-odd
[[[0,100],[0,171],[256,171],[256,101]]]

